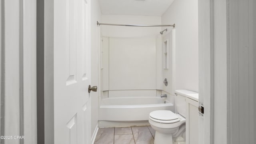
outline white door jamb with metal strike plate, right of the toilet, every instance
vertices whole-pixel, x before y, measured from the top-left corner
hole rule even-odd
[[[199,144],[227,142],[229,0],[198,0]]]

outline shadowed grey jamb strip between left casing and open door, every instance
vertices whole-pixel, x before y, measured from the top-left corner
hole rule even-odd
[[[54,144],[54,0],[37,0],[37,144]]]

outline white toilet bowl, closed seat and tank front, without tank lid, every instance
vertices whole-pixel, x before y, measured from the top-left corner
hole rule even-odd
[[[150,112],[151,127],[156,130],[154,144],[185,144],[186,140],[186,98],[178,94],[175,97],[178,114],[170,110]]]

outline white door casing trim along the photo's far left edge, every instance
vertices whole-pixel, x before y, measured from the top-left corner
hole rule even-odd
[[[0,11],[0,135],[12,137],[0,143],[35,144],[36,1],[1,0]]]

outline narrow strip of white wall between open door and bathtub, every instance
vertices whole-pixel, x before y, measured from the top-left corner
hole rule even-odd
[[[98,92],[91,93],[91,134],[94,134],[98,126],[98,97],[100,96],[99,78],[99,39],[100,29],[97,26],[97,21],[101,20],[101,11],[98,0],[91,0],[91,85],[98,86]]]

